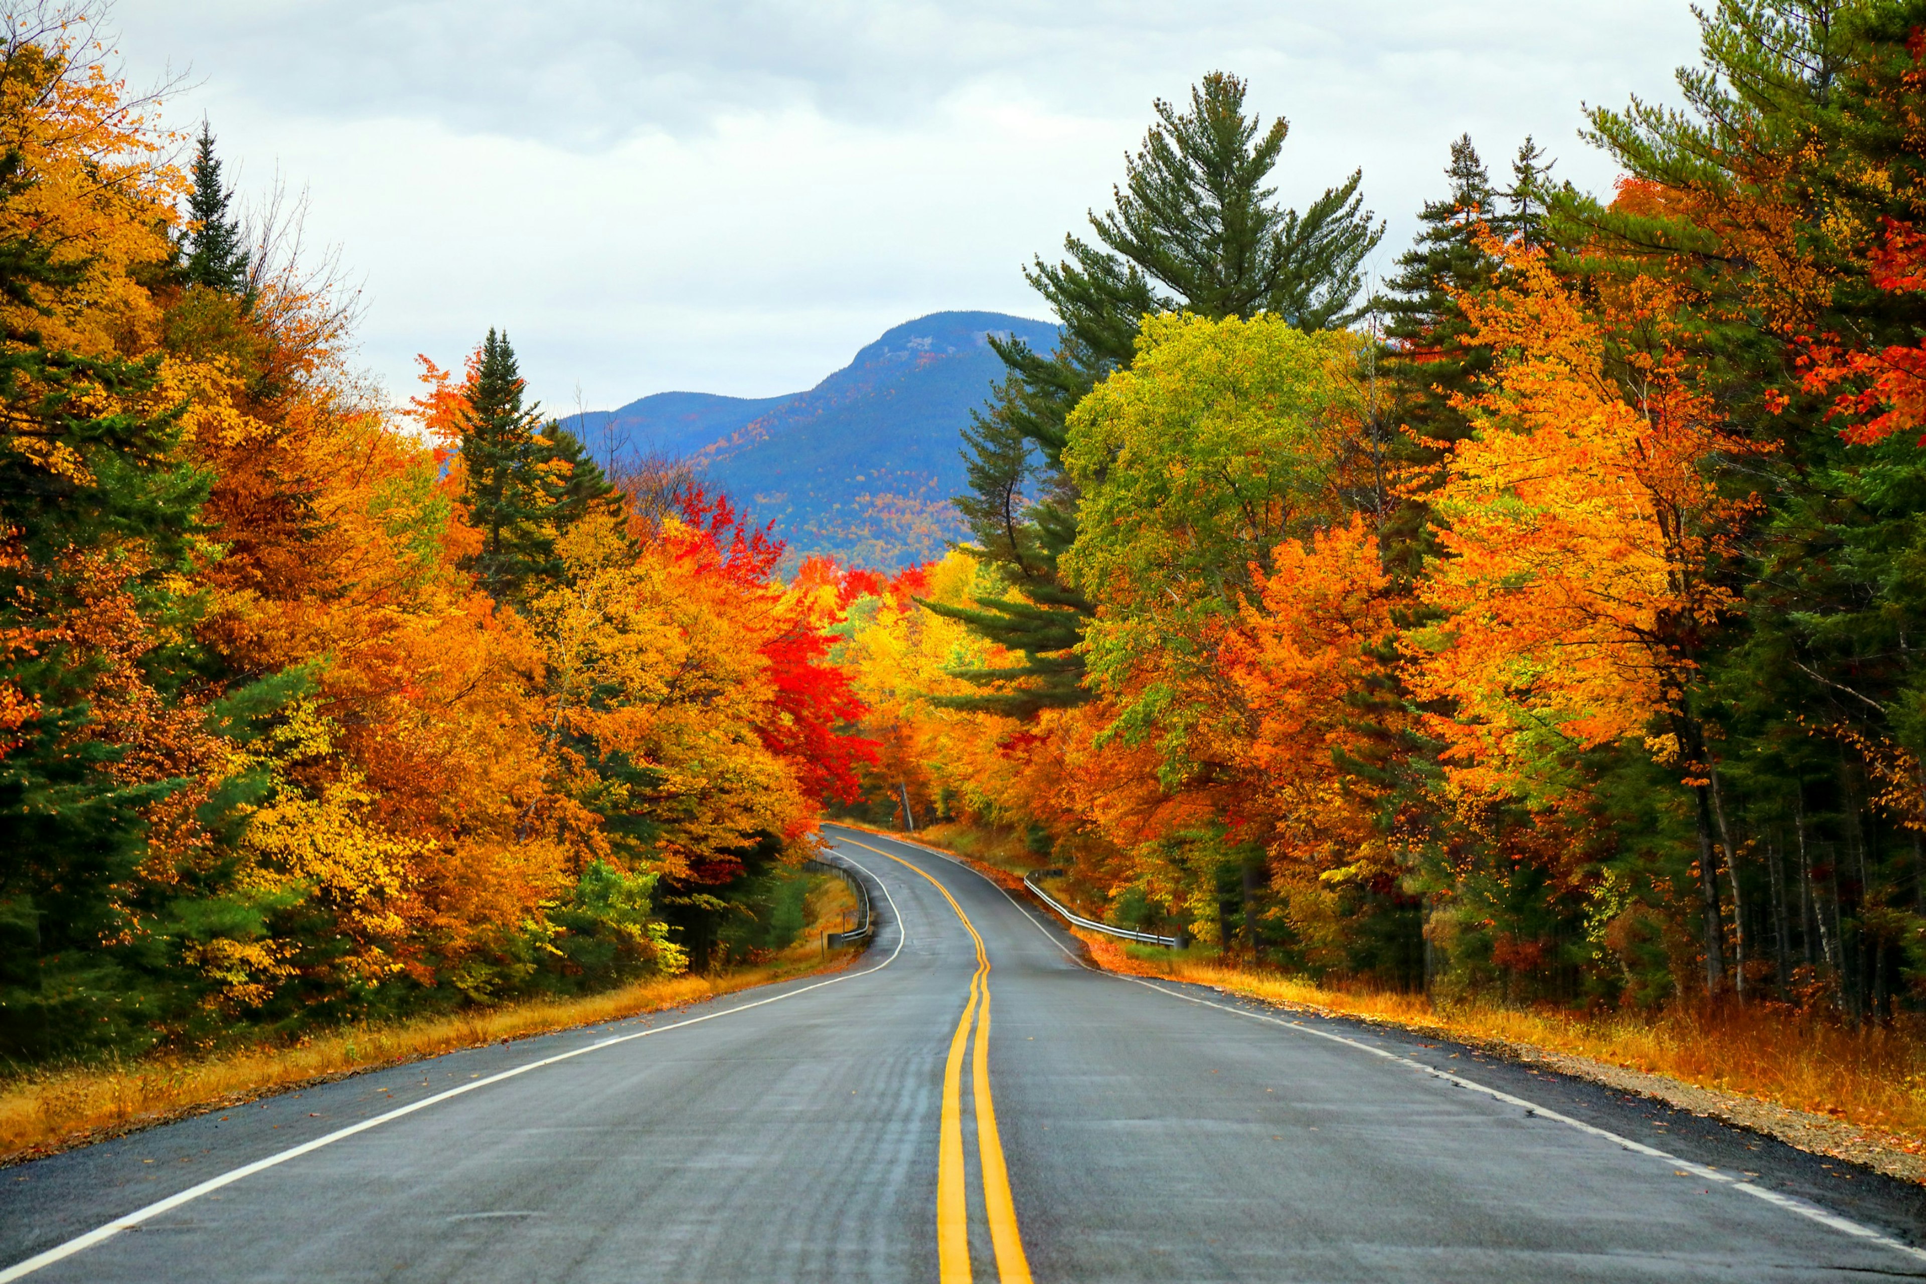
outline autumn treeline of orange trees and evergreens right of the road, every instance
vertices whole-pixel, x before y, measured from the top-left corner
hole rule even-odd
[[[867,626],[913,805],[1317,974],[1916,1005],[1926,4],[1701,23],[1610,196],[1462,139],[1375,291],[1358,175],[1281,208],[1240,81],[1158,104]]]

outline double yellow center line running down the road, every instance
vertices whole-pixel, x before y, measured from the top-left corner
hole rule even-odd
[[[976,1101],[976,1170],[982,1178],[982,1207],[990,1222],[990,1244],[996,1247],[996,1274],[1002,1284],[1030,1284],[1030,1263],[1023,1255],[1023,1236],[1017,1234],[1017,1205],[1009,1197],[1009,1170],[1003,1167],[1003,1140],[996,1132],[996,1101],[990,1097],[990,957],[982,951],[976,924],[969,920],[957,899],[928,872],[880,847],[853,843],[878,857],[890,857],[907,870],[930,880],[950,909],[957,912],[963,930],[976,943],[976,972],[969,978],[969,1003],[950,1038],[950,1061],[944,1065],[944,1115],[936,1147],[936,1261],[942,1284],[969,1284],[969,1194],[963,1176],[963,1051],[969,1047],[971,1020],[976,1022],[976,1045],[971,1057],[971,1095]]]

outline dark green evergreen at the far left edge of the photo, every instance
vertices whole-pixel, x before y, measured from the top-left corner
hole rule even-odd
[[[31,189],[17,152],[0,160],[0,206]],[[31,219],[10,225],[33,227]],[[0,239],[0,295],[40,310],[81,281],[35,233]],[[98,737],[92,693],[110,645],[179,637],[191,624],[171,585],[191,570],[208,479],[179,462],[179,412],[114,410],[154,387],[154,360],[81,356],[33,327],[0,327],[0,687],[33,716],[0,733],[0,1055],[37,1057],[119,1040],[152,1018],[139,961],[102,949],[137,912],[119,891],[146,855],[143,809],[179,782],[129,783],[123,751]],[[48,458],[73,466],[46,468]],[[106,616],[131,604],[133,620]],[[162,647],[156,681],[187,670]],[[193,660],[195,656],[185,656]],[[17,693],[17,695],[13,695]]]

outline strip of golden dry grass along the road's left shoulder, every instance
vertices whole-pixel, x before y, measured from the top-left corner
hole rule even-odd
[[[847,966],[855,953],[826,951],[822,934],[842,926],[855,897],[836,878],[817,878],[809,922],[788,949],[716,976],[666,976],[578,997],[530,999],[493,1009],[356,1024],[295,1043],[260,1043],[208,1057],[33,1068],[0,1080],[0,1165],[239,1105],[406,1061],[553,1034],[605,1020],[684,1007],[753,986]]]

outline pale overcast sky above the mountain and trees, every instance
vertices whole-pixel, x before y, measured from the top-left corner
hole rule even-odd
[[[1364,167],[1379,266],[1454,137],[1537,135],[1606,191],[1581,106],[1676,98],[1685,0],[119,0],[131,79],[193,89],[243,196],[306,187],[393,393],[508,331],[551,410],[767,397],[1021,275],[1210,69],[1285,116],[1279,189]]]

